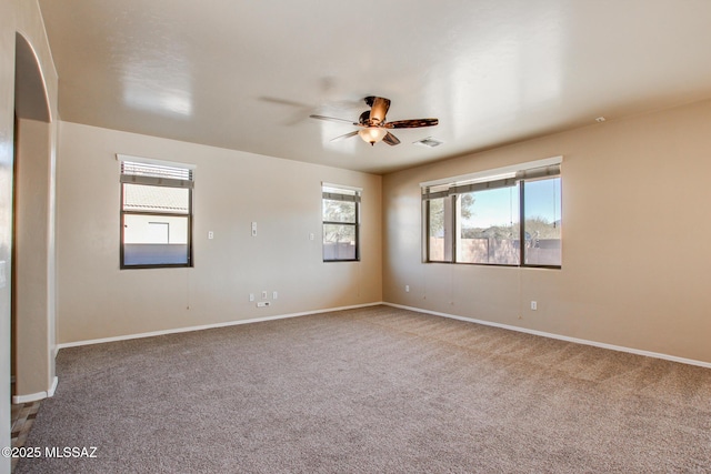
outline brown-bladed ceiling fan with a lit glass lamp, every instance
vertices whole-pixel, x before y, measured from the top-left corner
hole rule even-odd
[[[390,99],[369,95],[364,100],[368,107],[370,107],[370,110],[361,113],[358,122],[324,115],[309,117],[318,120],[327,120],[329,122],[344,122],[360,127],[360,130],[336,137],[331,141],[339,141],[350,137],[360,135],[363,141],[371,145],[382,140],[391,147],[400,143],[400,140],[389,132],[390,129],[417,129],[420,127],[433,127],[439,123],[439,120],[437,119],[395,120],[393,122],[385,122],[385,114],[388,113],[388,109],[390,109]]]

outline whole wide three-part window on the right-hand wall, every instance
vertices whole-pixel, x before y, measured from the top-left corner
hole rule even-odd
[[[424,260],[560,268],[560,162],[423,183]]]

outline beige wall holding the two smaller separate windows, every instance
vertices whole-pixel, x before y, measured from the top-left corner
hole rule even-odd
[[[119,270],[116,153],[197,165],[194,268]],[[322,181],[363,188],[360,262],[321,260]],[[58,342],[379,302],[380,192],[378,175],[61,122]]]

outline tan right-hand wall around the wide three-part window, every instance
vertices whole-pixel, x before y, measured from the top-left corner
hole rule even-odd
[[[711,362],[710,130],[705,101],[383,177],[384,301]],[[562,270],[421,263],[420,182],[555,155]]]

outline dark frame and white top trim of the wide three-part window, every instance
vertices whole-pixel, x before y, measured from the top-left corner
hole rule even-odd
[[[505,268],[534,268],[534,269],[562,269],[562,252],[561,263],[559,265],[553,264],[532,264],[525,263],[525,182],[539,181],[543,179],[561,179],[561,221],[562,221],[562,173],[561,173],[562,157],[553,157],[545,160],[538,160],[528,163],[521,163],[519,165],[505,167],[497,170],[483,171],[479,173],[471,173],[461,177],[453,177],[443,180],[435,180],[430,182],[420,183],[422,194],[422,262],[423,263],[445,263],[445,264],[462,264],[462,265],[480,265],[480,266],[505,266]],[[499,188],[517,186],[519,192],[519,259],[518,263],[481,263],[481,262],[458,262],[458,199],[460,195],[467,192],[484,191],[488,183],[501,183]],[[510,184],[509,184],[510,183]],[[471,191],[461,191],[471,189]],[[478,189],[480,188],[480,189]],[[438,191],[432,192],[432,189]],[[431,260],[431,241],[430,241],[430,224],[431,212],[430,201],[434,199],[442,199],[449,201],[449,211],[447,205],[444,206],[444,260]],[[449,214],[449,215],[448,215]],[[449,235],[448,235],[449,229]],[[562,248],[562,235],[561,235]],[[448,255],[448,246],[450,252]]]

